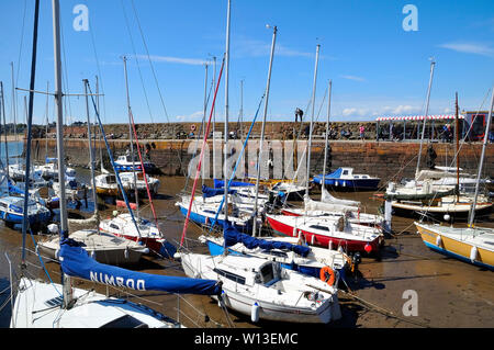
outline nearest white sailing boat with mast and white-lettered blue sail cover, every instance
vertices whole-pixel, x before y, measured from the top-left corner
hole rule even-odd
[[[37,18],[40,0],[36,0],[33,69],[31,77],[31,102],[33,101],[35,45],[37,41]],[[61,142],[61,78],[60,78],[60,45],[59,45],[59,3],[53,0],[54,13],[54,43],[55,43],[55,77],[57,102],[57,144],[58,155],[64,155]],[[32,103],[27,120],[29,140],[31,140]],[[29,148],[27,148],[29,149]],[[27,160],[31,151],[27,150]],[[59,157],[59,159],[63,159]],[[26,163],[26,174],[30,165]],[[64,162],[59,161],[60,183],[64,181]],[[63,196],[65,192],[63,191]],[[82,278],[113,286],[125,286],[132,290],[158,290],[169,293],[218,294],[221,284],[216,281],[195,280],[179,276],[153,275],[134,272],[116,267],[105,266],[91,259],[87,251],[76,241],[67,238],[67,208],[63,199],[60,241],[61,285],[44,283],[26,276],[25,247],[23,245],[22,274],[18,284],[18,294],[12,309],[11,328],[88,328],[88,327],[180,327],[180,324],[148,307],[128,302],[127,300],[106,297],[93,291],[72,289],[70,276]],[[23,237],[25,237],[27,221],[23,223]],[[23,240],[24,244],[24,240]],[[11,281],[13,284],[13,281]],[[13,287],[12,287],[13,289]]]

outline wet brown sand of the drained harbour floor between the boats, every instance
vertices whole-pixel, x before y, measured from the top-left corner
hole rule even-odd
[[[80,172],[83,173],[83,169]],[[78,173],[79,169],[78,169]],[[183,216],[175,205],[176,194],[184,185],[183,178],[161,177],[160,191],[155,199],[159,225],[166,237],[179,244],[183,228]],[[189,182],[189,189],[191,182]],[[372,199],[373,192],[336,193],[339,197],[361,201],[369,213],[377,213],[380,202]],[[103,217],[110,216],[114,206],[108,205]],[[144,217],[151,217],[149,206],[141,205]],[[482,223],[483,226],[494,227],[493,214]],[[422,327],[494,327],[494,280],[493,272],[482,270],[469,263],[445,257],[425,247],[416,234],[412,218],[393,216],[393,236],[386,237],[380,259],[362,258],[359,272],[350,279],[349,286],[356,300],[346,292],[339,294],[343,318],[336,323],[324,325],[325,328],[422,328]],[[12,260],[14,270],[19,272],[21,259],[22,235],[0,227],[0,292],[8,286],[9,266],[4,252]],[[201,230],[194,224],[189,225],[187,245],[190,249],[206,252],[206,248],[193,240]],[[34,236],[38,240],[41,236]],[[31,236],[26,237],[26,246],[33,249]],[[29,261],[37,262],[37,258],[29,255]],[[59,266],[47,262],[46,268],[52,280],[58,283]],[[151,256],[142,259],[134,270],[156,273],[184,275],[179,262],[164,260]],[[34,271],[43,278],[42,270]],[[45,278],[46,279],[46,278]],[[74,280],[76,286],[94,287],[105,293],[106,287],[93,283]],[[405,316],[403,305],[405,291],[415,291],[418,301],[418,315]],[[0,306],[3,305],[8,293],[0,294]],[[115,290],[109,289],[110,294]],[[123,294],[120,294],[123,295]],[[406,295],[405,295],[406,296]],[[130,300],[148,305],[175,319],[179,319],[187,327],[200,328],[261,328],[274,329],[279,324],[252,324],[249,316],[228,312],[226,315],[217,307],[217,303],[207,296],[167,295],[160,292],[133,292]],[[180,309],[180,313],[178,313]],[[0,327],[9,327],[10,307],[0,312]],[[305,325],[297,325],[304,329]],[[311,326],[313,327],[313,326]]]

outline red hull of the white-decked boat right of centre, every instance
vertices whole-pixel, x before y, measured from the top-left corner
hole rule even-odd
[[[293,215],[292,215],[293,216]],[[288,224],[283,224],[279,221],[276,221],[271,217],[268,217],[269,225],[271,225],[272,229],[279,234],[284,235],[289,237],[299,237],[299,233],[302,234],[305,241],[308,245],[317,246],[322,248],[328,248],[329,246],[333,247],[333,249],[338,248],[341,246],[345,251],[364,251],[364,252],[371,252],[371,251],[378,251],[380,247],[379,237],[377,237],[372,241],[368,240],[358,240],[358,239],[341,239],[333,236],[327,235],[321,235],[311,233],[301,228],[297,228],[296,232],[294,230],[294,227]],[[368,246],[366,248],[366,246]],[[369,250],[370,246],[370,250]]]

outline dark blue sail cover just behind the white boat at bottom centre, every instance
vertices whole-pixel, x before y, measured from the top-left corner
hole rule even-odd
[[[239,233],[237,229],[235,229],[235,227],[232,227],[231,225],[224,225],[223,237],[225,239],[225,247],[231,247],[236,245],[237,242],[242,242],[248,249],[259,247],[266,250],[271,249],[292,250],[302,257],[306,257],[311,252],[311,248],[307,246],[292,245],[285,241],[265,240],[255,238],[252,236]]]

